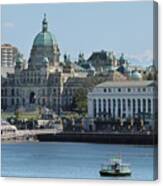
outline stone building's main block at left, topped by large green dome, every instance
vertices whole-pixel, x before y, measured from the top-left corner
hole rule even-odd
[[[2,82],[2,110],[26,111],[39,106],[59,113],[63,85],[60,50],[55,36],[48,30],[44,15],[41,32],[34,38],[28,65],[25,68],[21,55],[17,55],[15,72],[8,73]]]

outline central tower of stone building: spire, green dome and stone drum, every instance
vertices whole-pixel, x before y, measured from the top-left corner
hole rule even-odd
[[[48,31],[48,21],[46,14],[42,21],[42,30],[39,32],[33,42],[30,58],[28,61],[29,68],[41,67],[44,57],[48,59],[50,67],[59,63],[60,50],[55,36]]]

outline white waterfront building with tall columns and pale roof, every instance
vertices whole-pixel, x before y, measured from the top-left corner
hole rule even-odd
[[[154,81],[108,81],[88,94],[88,117],[135,118],[153,116]]]

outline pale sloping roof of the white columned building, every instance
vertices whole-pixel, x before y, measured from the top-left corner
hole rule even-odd
[[[98,84],[97,88],[105,87],[146,87],[153,86],[154,81],[107,81],[101,84]]]

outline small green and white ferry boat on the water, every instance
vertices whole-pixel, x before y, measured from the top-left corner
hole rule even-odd
[[[103,164],[100,170],[101,176],[130,176],[131,169],[129,164],[122,163],[121,158],[113,158],[107,164]]]

